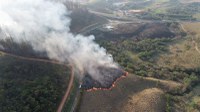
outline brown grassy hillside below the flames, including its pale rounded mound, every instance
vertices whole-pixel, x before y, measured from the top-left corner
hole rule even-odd
[[[171,83],[171,82],[167,82]],[[113,88],[112,90],[108,91],[92,91],[92,92],[84,92],[81,100],[81,104],[79,107],[79,112],[88,112],[88,111],[93,111],[93,112],[109,112],[112,110],[112,112],[129,112],[128,109],[130,108],[135,108],[133,104],[128,103],[129,101],[135,102],[135,97],[138,98],[143,98],[145,95],[145,99],[140,99],[138,101],[149,101],[146,102],[147,104],[150,104],[152,101],[152,97],[154,96],[154,101],[156,103],[159,103],[162,107],[162,110],[165,110],[166,107],[166,102],[165,102],[165,93],[162,91],[166,92],[174,92],[173,90],[171,91],[170,88],[172,88],[171,85],[164,87],[166,83],[163,83],[162,81],[155,81],[155,80],[150,80],[150,79],[145,79],[142,77],[135,76],[133,74],[130,74],[127,78],[124,78],[120,80],[116,87]],[[152,89],[152,88],[161,88],[160,89]],[[173,89],[181,88],[179,84],[177,83],[176,86],[173,87]],[[157,96],[155,96],[157,95]],[[160,95],[160,96],[159,96]],[[161,99],[159,97],[162,97]],[[134,98],[134,100],[132,99]],[[140,109],[142,106],[142,103],[139,103],[135,109],[135,111],[131,112],[137,112],[137,109]],[[101,105],[101,106],[99,106]],[[154,105],[155,108],[161,108],[156,104]],[[128,106],[128,107],[126,107]],[[124,110],[124,108],[126,108]],[[142,107],[143,108],[143,107]],[[152,107],[144,107],[144,109],[150,109]]]

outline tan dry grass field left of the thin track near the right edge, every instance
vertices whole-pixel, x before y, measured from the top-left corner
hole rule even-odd
[[[197,68],[200,66],[200,55],[191,39],[180,40],[169,47],[169,53],[160,55],[157,64],[169,68]]]

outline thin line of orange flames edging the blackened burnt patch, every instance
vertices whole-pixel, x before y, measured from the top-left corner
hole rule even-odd
[[[117,80],[115,82],[113,82],[112,86],[110,88],[95,88],[93,87],[92,89],[88,89],[86,90],[87,92],[91,92],[91,91],[97,91],[97,90],[111,90],[112,88],[115,87],[117,81],[119,81],[122,78],[125,78],[128,76],[128,72],[125,72],[124,75],[122,75],[121,77],[117,78]]]

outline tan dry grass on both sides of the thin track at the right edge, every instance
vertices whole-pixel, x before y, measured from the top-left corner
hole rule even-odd
[[[200,22],[183,23],[182,26],[191,36],[177,40],[175,44],[170,45],[170,53],[162,54],[157,61],[158,65],[172,68],[174,66],[183,66],[185,68],[197,68],[200,66],[200,53],[196,50],[196,45],[193,42],[194,39],[197,46],[200,46]]]

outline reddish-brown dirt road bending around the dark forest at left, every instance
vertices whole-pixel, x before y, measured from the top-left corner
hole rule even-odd
[[[0,53],[3,54],[3,55],[8,55],[8,56],[15,57],[15,58],[22,59],[22,60],[52,63],[52,64],[57,64],[57,65],[63,65],[63,66],[66,66],[66,67],[70,66],[70,69],[71,69],[70,81],[69,81],[67,90],[65,92],[65,95],[62,98],[62,101],[61,101],[61,103],[60,103],[60,105],[58,106],[58,109],[57,109],[57,112],[61,112],[62,111],[62,109],[63,109],[63,107],[65,105],[65,102],[66,102],[66,100],[67,100],[67,98],[68,98],[68,96],[70,94],[71,88],[73,86],[73,82],[74,82],[74,69],[73,69],[72,65],[60,63],[58,61],[53,61],[53,60],[47,60],[47,59],[38,59],[38,58],[23,57],[23,56],[11,54],[11,53],[6,53],[4,51],[0,51]]]

